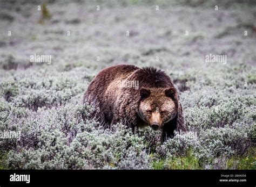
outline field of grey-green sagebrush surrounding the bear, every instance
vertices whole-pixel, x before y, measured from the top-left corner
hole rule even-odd
[[[0,169],[256,169],[256,4],[240,2],[1,1]],[[82,120],[93,77],[121,63],[170,75],[187,133]]]

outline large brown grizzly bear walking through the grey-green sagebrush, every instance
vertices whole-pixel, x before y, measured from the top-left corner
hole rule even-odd
[[[101,123],[124,123],[133,132],[147,125],[162,131],[162,142],[174,130],[186,131],[176,88],[164,71],[153,67],[121,64],[103,69],[90,83],[84,103],[98,107],[95,116]]]

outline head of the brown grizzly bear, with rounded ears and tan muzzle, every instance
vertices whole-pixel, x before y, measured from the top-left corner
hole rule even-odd
[[[174,119],[178,113],[178,93],[175,88],[141,88],[139,117],[153,130]]]

